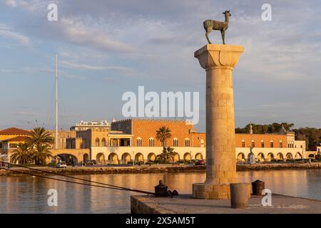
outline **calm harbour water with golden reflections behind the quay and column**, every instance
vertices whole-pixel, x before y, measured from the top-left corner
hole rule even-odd
[[[154,191],[158,180],[170,190],[190,194],[191,185],[204,182],[205,173],[153,173],[81,175],[86,180]],[[63,177],[57,177],[63,179]],[[321,199],[321,170],[273,170],[238,172],[238,182],[265,181],[272,192]],[[48,190],[58,191],[58,207],[49,207]],[[130,195],[135,192],[75,185],[39,177],[0,177],[0,213],[128,213]]]

